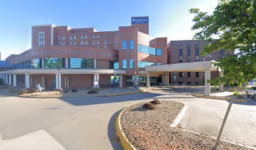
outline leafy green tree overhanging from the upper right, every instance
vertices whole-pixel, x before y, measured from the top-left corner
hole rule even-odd
[[[241,85],[256,78],[256,2],[254,0],[222,0],[213,14],[208,15],[198,8],[190,9],[195,14],[194,39],[207,39],[208,45],[202,55],[225,49],[227,55],[214,65],[225,71],[223,78],[208,81]],[[213,36],[218,36],[213,39]]]

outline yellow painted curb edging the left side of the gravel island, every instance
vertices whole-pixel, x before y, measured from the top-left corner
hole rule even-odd
[[[126,108],[129,108],[129,106],[126,107]],[[119,137],[120,143],[122,144],[122,148],[124,148],[124,150],[136,150],[136,148],[134,148],[134,146],[125,137],[125,134],[122,131],[122,127],[121,127],[121,123],[120,123],[120,118],[121,118],[122,113],[125,111],[126,108],[124,108],[121,111],[121,113],[117,116],[117,118],[115,119],[115,133]]]

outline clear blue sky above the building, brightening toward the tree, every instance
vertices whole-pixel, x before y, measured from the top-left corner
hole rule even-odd
[[[1,60],[31,48],[31,25],[95,27],[97,31],[117,31],[131,26],[132,16],[149,16],[149,34],[171,40],[193,39],[193,14],[199,8],[212,13],[218,0],[1,0]]]

